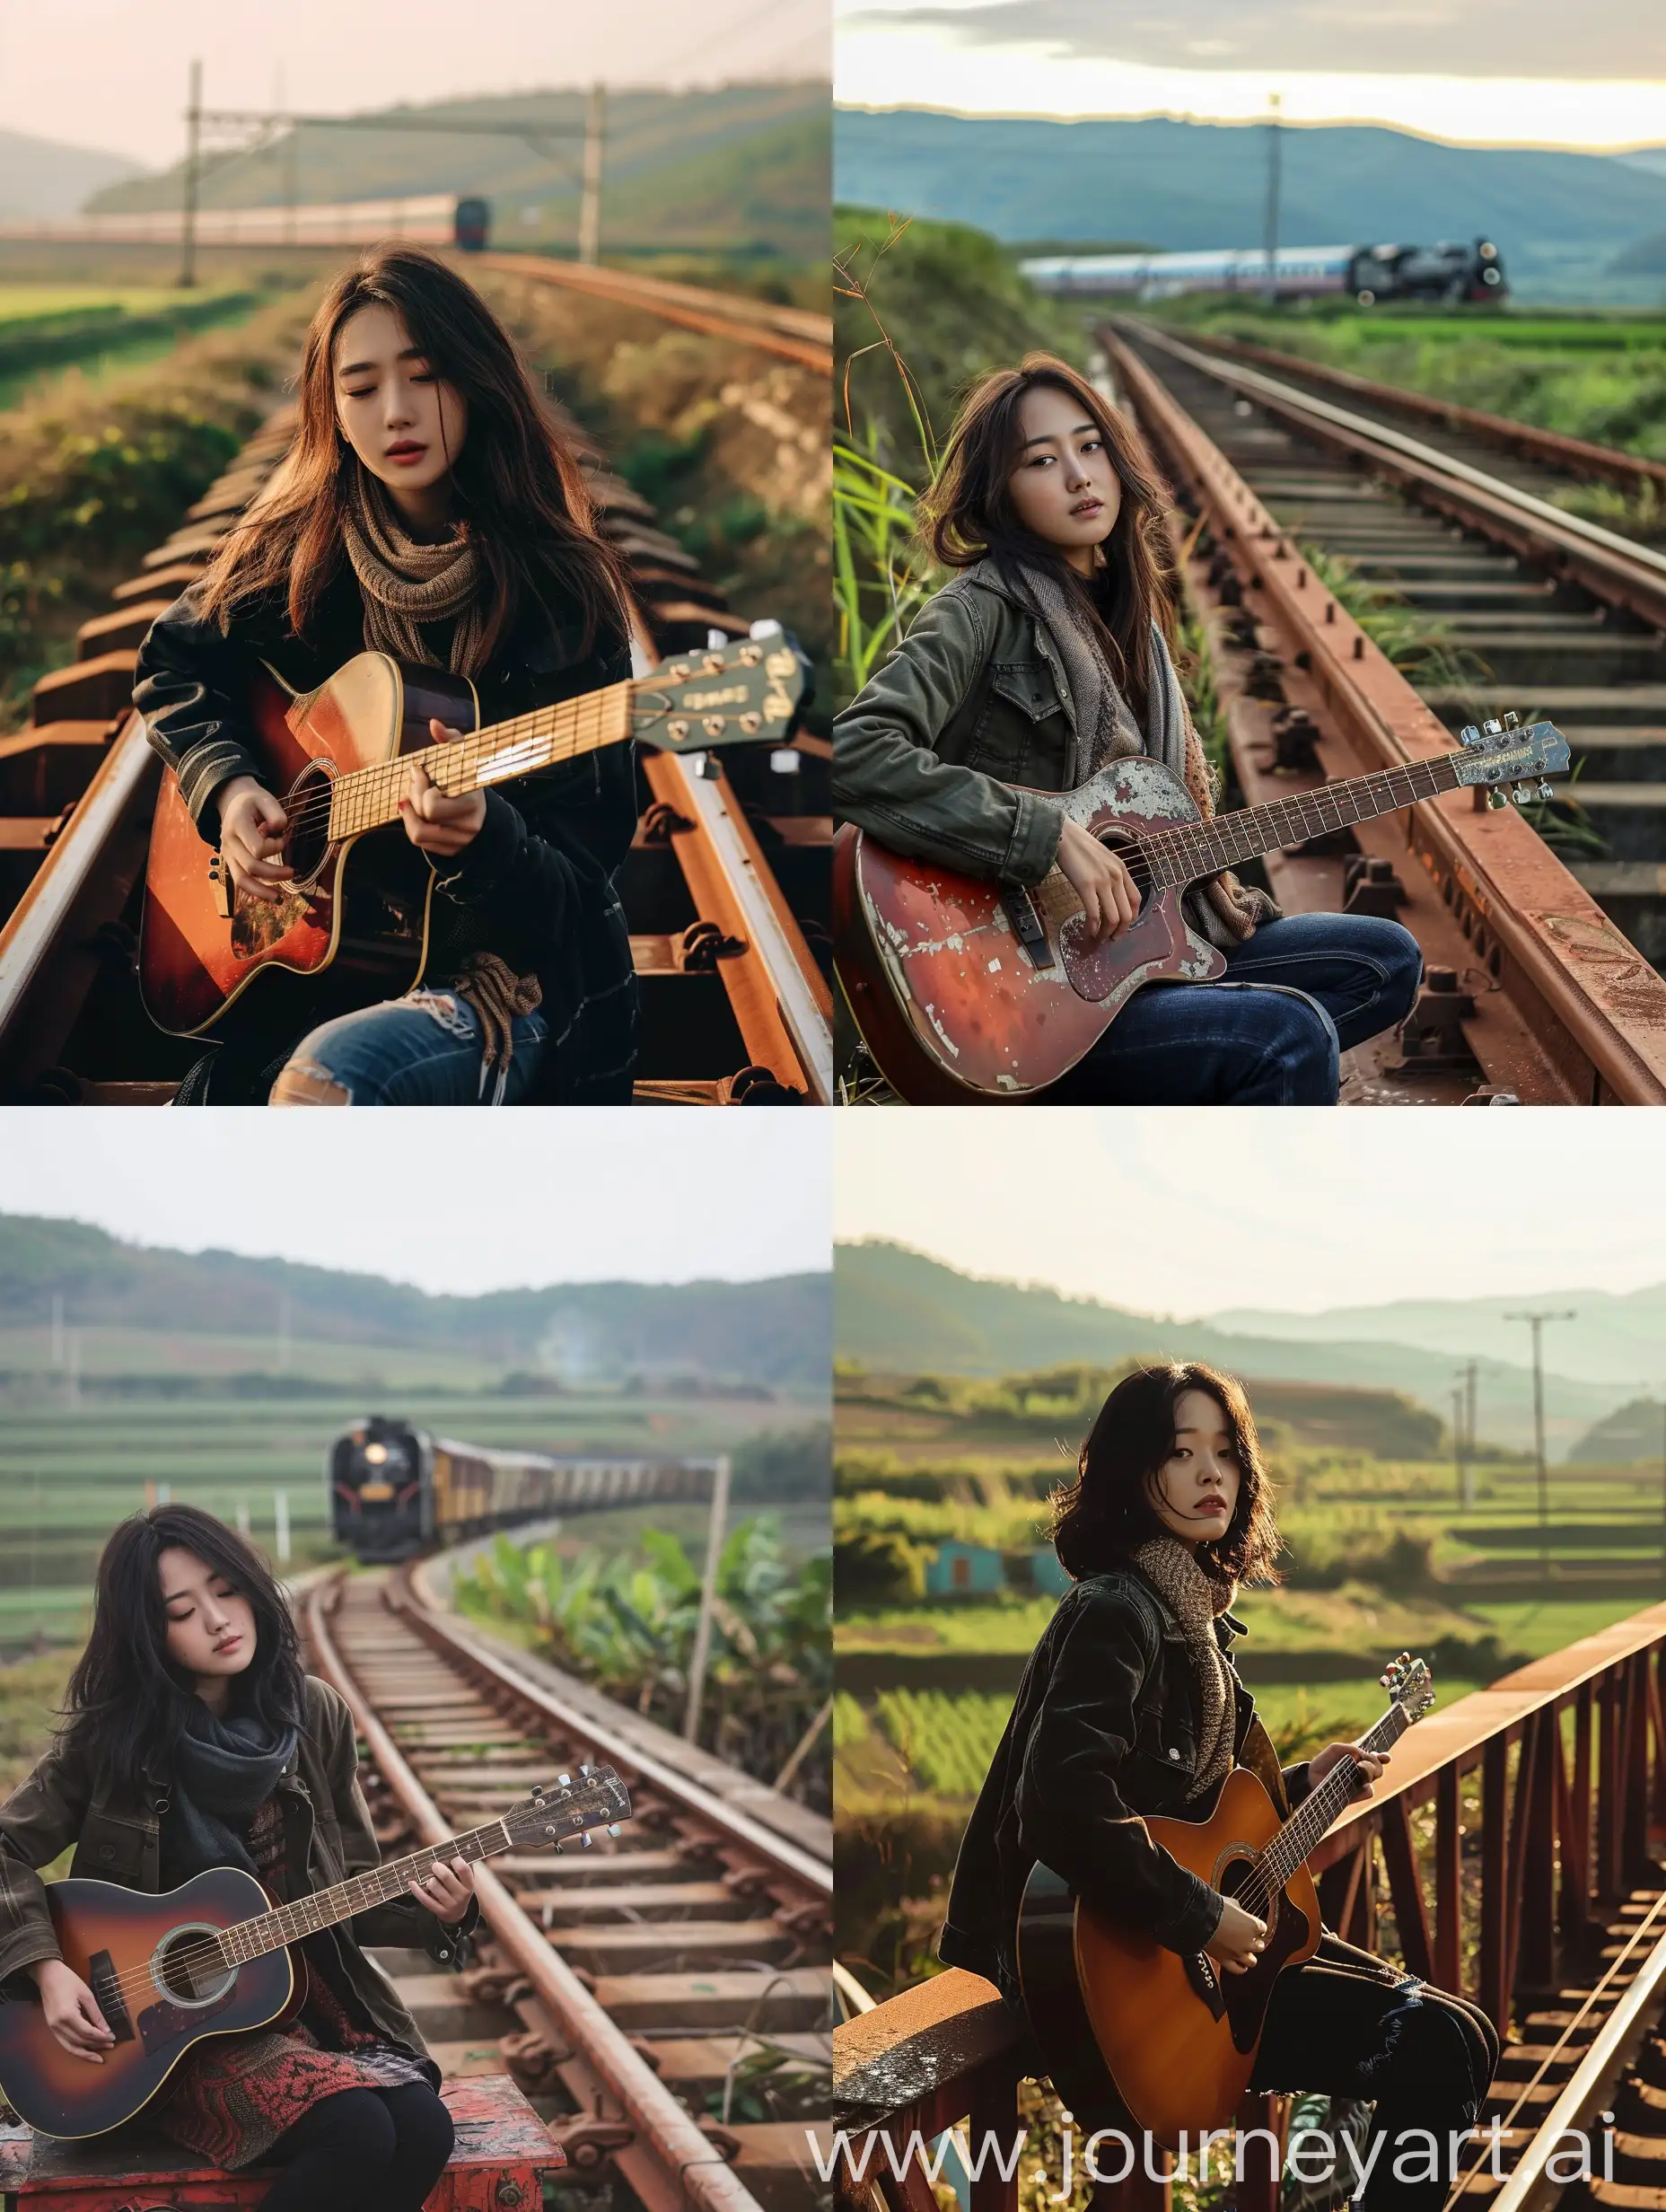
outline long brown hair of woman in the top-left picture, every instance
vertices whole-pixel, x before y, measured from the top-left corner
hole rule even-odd
[[[624,628],[619,557],[595,529],[595,507],[573,447],[533,394],[509,332],[473,285],[418,246],[374,246],[330,285],[301,356],[299,427],[270,495],[215,555],[199,608],[219,626],[252,599],[285,595],[305,637],[345,553],[343,511],[367,495],[358,456],[336,427],[336,338],[361,307],[389,307],[469,405],[451,465],[458,520],[480,551],[489,657],[531,599],[564,599],[580,617],[580,650]],[[551,604],[553,602],[553,604]]]

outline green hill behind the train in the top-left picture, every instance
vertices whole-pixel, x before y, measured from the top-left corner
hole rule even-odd
[[[303,128],[303,201],[480,192],[493,243],[571,246],[577,228],[582,93],[504,93],[398,108],[416,119],[524,124],[520,137],[434,131]],[[573,135],[577,133],[577,137]],[[602,248],[754,246],[827,254],[832,131],[827,84],[726,84],[699,93],[613,93],[602,170]],[[91,208],[177,208],[181,170],[97,192]],[[204,179],[204,206],[263,208],[285,195],[277,148],[246,153]]]

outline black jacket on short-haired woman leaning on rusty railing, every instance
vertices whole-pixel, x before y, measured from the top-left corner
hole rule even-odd
[[[1308,1794],[1308,1765],[1279,1767],[1230,1644],[1243,1624],[1215,1621],[1228,1652],[1232,1763],[1252,1767],[1281,1812]],[[1159,1843],[1142,1814],[1195,1820],[1197,1674],[1186,1637],[1144,1575],[1117,1568],[1066,1590],[1029,1655],[1011,1721],[960,1840],[938,1955],[1018,1989],[1018,1905],[1035,1860],[1115,1920],[1170,1951],[1199,1951],[1221,1918],[1210,1889]]]

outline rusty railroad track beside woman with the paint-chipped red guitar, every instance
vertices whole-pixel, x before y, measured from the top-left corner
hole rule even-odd
[[[1412,1022],[1350,1055],[1345,1102],[1666,1102],[1666,555],[1553,509],[1518,482],[1547,458],[1500,460],[1474,425],[1412,436],[1139,319],[1102,343],[1179,491],[1248,803],[1445,752],[1507,708],[1551,717],[1580,763],[1578,814],[1551,812],[1600,854],[1456,794],[1268,856],[1290,911],[1389,914],[1425,949]],[[1474,672],[1401,672],[1310,551]]]

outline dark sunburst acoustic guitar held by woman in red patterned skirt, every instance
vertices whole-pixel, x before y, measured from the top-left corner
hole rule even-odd
[[[166,1896],[117,1882],[49,1882],[64,1964],[93,1991],[115,2042],[104,2064],[77,2059],[51,2035],[38,1997],[0,2004],[0,2090],[38,2135],[86,2137],[146,2106],[206,2035],[265,2028],[301,2008],[301,1938],[400,1898],[445,1858],[489,1858],[516,1843],[589,1845],[593,1827],[631,1818],[613,1767],[558,1776],[487,1827],[356,1874],[334,1889],[274,1907],[241,1867],[210,1867]]]

